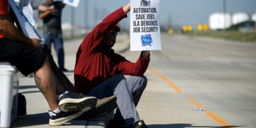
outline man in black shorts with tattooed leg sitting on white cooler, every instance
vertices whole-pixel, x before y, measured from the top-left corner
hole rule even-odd
[[[50,126],[60,126],[115,99],[98,100],[61,85],[51,70],[47,54],[42,52],[39,43],[42,40],[30,39],[14,26],[8,19],[8,4],[8,0],[0,0],[0,62],[10,62],[25,76],[34,73],[35,84],[51,110]]]

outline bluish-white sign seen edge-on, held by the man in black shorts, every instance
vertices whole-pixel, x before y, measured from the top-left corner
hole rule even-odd
[[[29,38],[37,38],[41,39],[37,31],[34,29],[34,27],[29,23],[27,17],[23,14],[22,10],[18,7],[18,5],[15,3],[14,0],[8,0],[11,8],[13,9],[20,27],[22,28],[22,31],[25,35],[27,35]],[[40,42],[41,45],[44,44],[44,42]]]

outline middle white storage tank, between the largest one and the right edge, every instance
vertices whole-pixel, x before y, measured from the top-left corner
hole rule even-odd
[[[238,13],[234,13],[232,15],[232,24],[236,25],[245,21],[250,20],[250,17],[248,14],[243,13],[243,12],[238,12]]]

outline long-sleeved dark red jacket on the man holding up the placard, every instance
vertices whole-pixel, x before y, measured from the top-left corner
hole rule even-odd
[[[76,53],[74,71],[75,88],[81,93],[88,94],[92,88],[114,75],[142,76],[147,70],[150,57],[144,59],[140,56],[136,63],[132,63],[114,53],[113,49],[105,55],[101,46],[108,33],[126,17],[123,8],[116,10],[102,20],[81,43]]]

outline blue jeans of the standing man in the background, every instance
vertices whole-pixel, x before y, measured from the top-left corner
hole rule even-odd
[[[62,34],[59,35],[43,35],[45,44],[49,45],[51,49],[51,44],[54,42],[54,48],[58,56],[58,64],[60,69],[64,69],[64,49],[63,49],[63,39]]]

